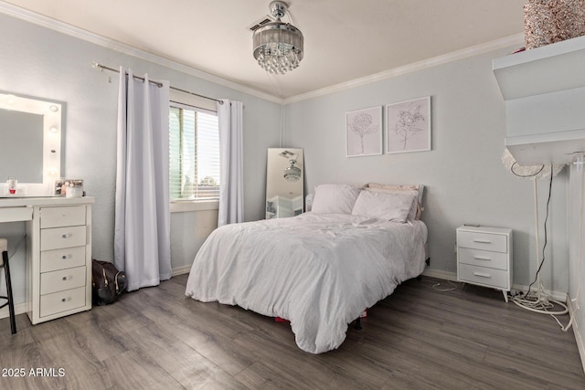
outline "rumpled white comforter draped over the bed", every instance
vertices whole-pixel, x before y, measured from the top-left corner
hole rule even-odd
[[[288,319],[303,351],[324,353],[362,311],[420,275],[426,238],[421,221],[342,214],[219,227],[197,253],[186,295]]]

